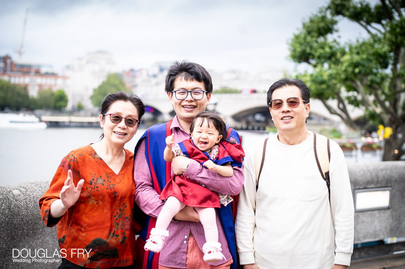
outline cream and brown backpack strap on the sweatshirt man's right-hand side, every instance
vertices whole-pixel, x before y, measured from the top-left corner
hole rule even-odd
[[[331,161],[330,140],[326,136],[314,133],[314,153],[319,172],[326,182],[329,192],[329,201],[331,201],[331,181],[329,178],[329,163]]]

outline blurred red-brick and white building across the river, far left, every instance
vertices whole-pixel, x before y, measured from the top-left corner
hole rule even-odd
[[[66,90],[67,76],[57,75],[52,66],[42,63],[15,61],[10,56],[0,56],[0,79],[26,89],[29,96],[36,97],[43,89]]]

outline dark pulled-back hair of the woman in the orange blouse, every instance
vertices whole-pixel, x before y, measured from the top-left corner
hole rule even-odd
[[[113,92],[104,97],[104,100],[101,103],[101,109],[100,109],[100,114],[103,115],[101,118],[102,119],[105,118],[104,114],[107,113],[108,109],[110,109],[111,105],[116,101],[125,101],[125,102],[129,101],[135,106],[136,110],[138,111],[138,117],[139,117],[138,125],[139,125],[143,114],[145,114],[145,105],[143,104],[141,98],[139,98],[135,94],[126,93],[123,91]],[[102,139],[103,137],[104,137],[104,133],[102,133],[100,135],[100,139]]]

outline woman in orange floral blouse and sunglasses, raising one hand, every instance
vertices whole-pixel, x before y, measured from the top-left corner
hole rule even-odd
[[[39,200],[47,227],[57,225],[64,268],[133,268],[133,153],[124,149],[145,106],[136,95],[111,93],[101,105],[101,140],[66,155]]]

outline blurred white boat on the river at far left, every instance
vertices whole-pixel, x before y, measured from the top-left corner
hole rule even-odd
[[[35,115],[0,113],[0,129],[40,130],[46,127],[46,123],[41,122]]]

